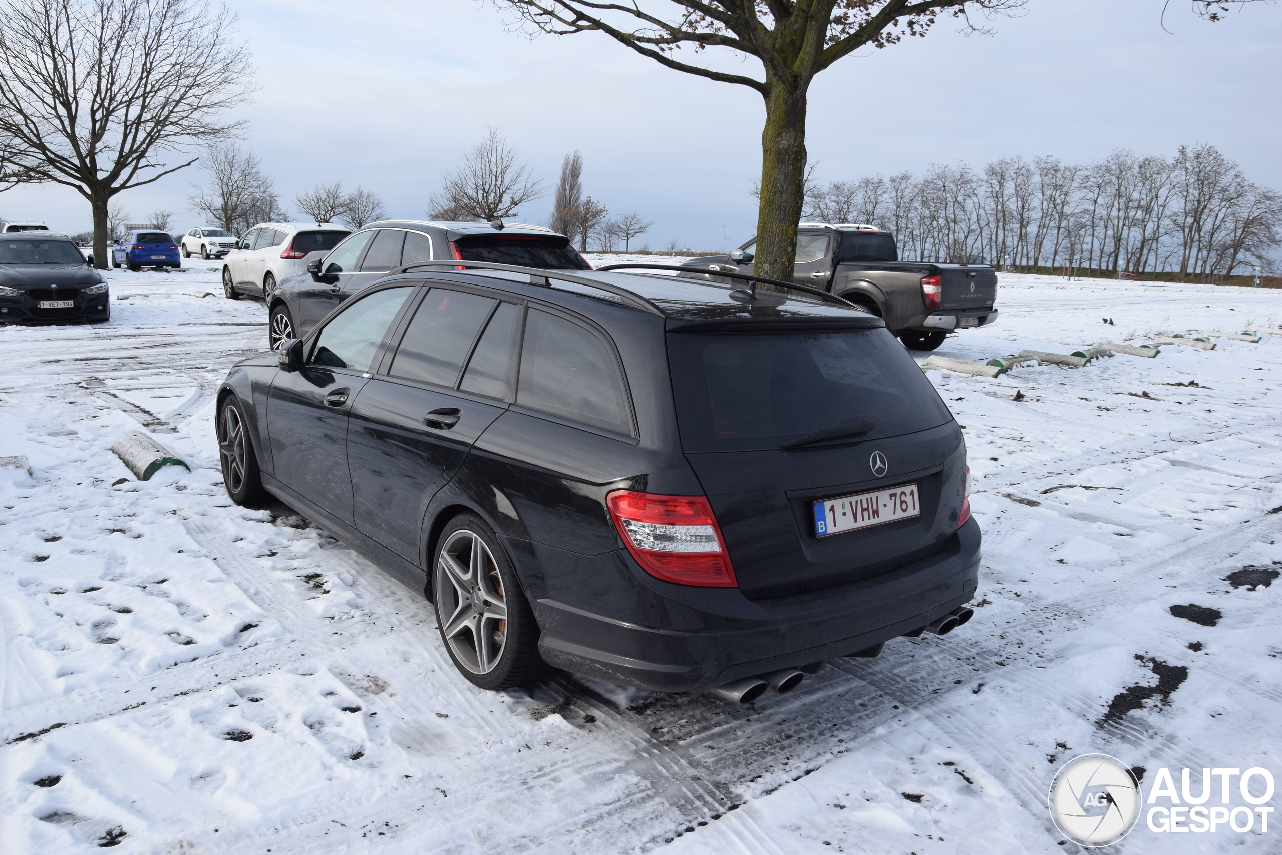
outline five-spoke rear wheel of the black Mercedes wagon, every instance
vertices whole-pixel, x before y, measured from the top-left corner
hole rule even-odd
[[[499,538],[474,514],[441,532],[432,560],[436,623],[454,667],[481,688],[533,682],[546,670],[538,624]]]

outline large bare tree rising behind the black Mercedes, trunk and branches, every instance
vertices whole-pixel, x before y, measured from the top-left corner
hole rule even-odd
[[[942,12],[963,19],[1009,10],[1023,0],[673,0],[664,15],[653,4],[609,0],[496,0],[533,32],[599,31],[687,74],[755,90],[765,101],[758,209],[760,276],[792,278],[796,227],[804,205],[806,97],[814,77],[863,46],[885,47],[924,35]],[[727,47],[756,58],[762,79],[679,62],[677,50]]]

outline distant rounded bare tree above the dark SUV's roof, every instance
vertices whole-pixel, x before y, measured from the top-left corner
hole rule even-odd
[[[432,195],[432,210],[458,210],[485,222],[513,217],[527,201],[546,196],[529,176],[529,164],[517,162],[515,149],[490,128],[485,140],[472,146],[463,163],[441,179],[440,195]]]

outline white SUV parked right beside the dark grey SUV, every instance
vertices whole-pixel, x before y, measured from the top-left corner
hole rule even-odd
[[[223,292],[267,297],[287,276],[304,273],[308,255],[328,253],[350,228],[332,223],[262,223],[249,229],[223,263]],[[317,256],[319,258],[319,256]]]

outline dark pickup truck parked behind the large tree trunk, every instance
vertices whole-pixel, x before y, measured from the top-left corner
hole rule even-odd
[[[682,267],[692,269],[679,276],[750,273],[755,250],[754,237],[729,255],[686,261]],[[696,273],[699,268],[708,273]],[[996,270],[987,264],[900,261],[895,236],[873,226],[801,223],[792,278],[867,306],[913,350],[935,350],[955,329],[997,320]]]

